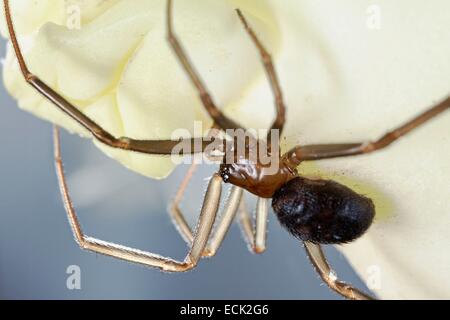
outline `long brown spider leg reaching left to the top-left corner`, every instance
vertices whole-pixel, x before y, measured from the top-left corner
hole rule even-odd
[[[44,81],[39,79],[39,77],[29,71],[17,40],[11,17],[9,0],[3,0],[3,4],[8,32],[24,79],[56,107],[88,130],[94,138],[112,148],[157,155],[170,155],[172,149],[182,142],[190,144],[190,150],[192,150],[191,153],[201,152],[211,143],[203,141],[202,138],[185,140],[134,140],[128,137],[114,137],[91,118],[84,115],[77,107],[67,101],[59,93],[50,88]],[[194,146],[202,146],[202,150],[196,150]]]

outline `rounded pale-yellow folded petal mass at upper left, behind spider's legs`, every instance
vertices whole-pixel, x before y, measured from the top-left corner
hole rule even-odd
[[[116,136],[168,139],[175,129],[193,133],[195,120],[203,120],[203,129],[208,129],[211,120],[166,39],[165,0],[56,2],[64,9],[56,24],[46,24],[53,20],[45,16],[39,24],[27,26],[33,33],[19,32],[32,72]],[[174,3],[176,32],[220,107],[236,104],[264,73],[234,11],[238,3]],[[80,29],[70,25],[75,8],[81,13]],[[20,13],[19,9],[13,7],[13,12]],[[276,51],[277,23],[267,2],[246,1],[243,10]],[[16,22],[22,16],[13,19]],[[12,50],[4,78],[23,109],[87,136],[86,130],[52,109],[25,83]],[[174,167],[168,157],[101,149],[126,167],[154,178],[167,176]]]

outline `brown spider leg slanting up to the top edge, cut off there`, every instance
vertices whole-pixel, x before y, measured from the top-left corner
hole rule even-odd
[[[184,70],[188,74],[190,80],[194,84],[197,89],[200,99],[203,103],[208,114],[211,118],[214,119],[214,122],[222,129],[240,129],[242,128],[233,120],[229,119],[225,116],[215,105],[213,99],[211,98],[208,90],[206,89],[206,85],[200,79],[197,71],[195,70],[193,64],[189,60],[185,50],[183,49],[181,43],[178,41],[174,31],[173,31],[173,23],[172,23],[172,0],[167,0],[167,38],[169,40],[170,45],[172,46],[173,51],[175,52],[178,60],[183,66]]]

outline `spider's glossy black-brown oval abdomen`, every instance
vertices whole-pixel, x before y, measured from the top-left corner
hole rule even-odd
[[[302,177],[272,198],[280,223],[295,237],[314,243],[345,243],[360,237],[375,216],[372,200],[330,180]]]

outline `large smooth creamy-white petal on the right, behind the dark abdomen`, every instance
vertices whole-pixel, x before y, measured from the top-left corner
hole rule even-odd
[[[379,30],[373,4],[273,1],[287,147],[375,139],[450,94],[448,1],[377,1]],[[236,112],[257,115],[252,97]],[[381,298],[450,298],[449,128],[447,112],[377,154],[300,167],[374,199],[373,227],[339,249]]]

